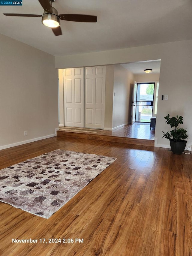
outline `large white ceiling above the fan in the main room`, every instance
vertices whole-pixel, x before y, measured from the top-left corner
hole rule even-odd
[[[98,16],[97,23],[61,20],[61,36],[40,17],[3,15],[43,14],[38,0],[22,2],[1,6],[0,33],[55,56],[192,39],[192,0],[56,0],[58,14]]]

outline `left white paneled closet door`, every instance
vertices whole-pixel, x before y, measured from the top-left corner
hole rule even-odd
[[[63,70],[64,125],[84,127],[84,69]]]

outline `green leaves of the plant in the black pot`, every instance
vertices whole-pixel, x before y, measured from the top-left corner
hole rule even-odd
[[[168,114],[167,116],[165,116],[165,119],[165,122],[170,125],[171,128],[174,127],[174,129],[166,133],[163,131],[163,137],[165,137],[167,140],[173,140],[176,142],[180,142],[182,139],[187,139],[187,130],[184,130],[183,128],[178,128],[179,124],[183,124],[183,117],[181,115],[170,117],[170,115]]]

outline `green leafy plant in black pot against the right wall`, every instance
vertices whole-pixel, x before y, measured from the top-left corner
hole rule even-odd
[[[187,141],[183,139],[187,139],[188,137],[186,129],[178,128],[179,124],[183,124],[183,117],[181,115],[170,117],[168,114],[165,116],[165,119],[165,122],[170,125],[171,128],[174,127],[174,129],[166,133],[163,131],[163,137],[170,140],[171,150],[174,154],[182,154],[187,143]]]

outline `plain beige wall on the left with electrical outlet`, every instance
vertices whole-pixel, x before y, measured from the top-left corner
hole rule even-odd
[[[0,149],[54,136],[55,57],[4,35],[0,39]]]

